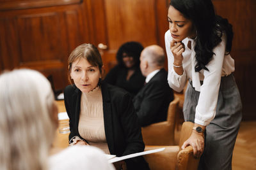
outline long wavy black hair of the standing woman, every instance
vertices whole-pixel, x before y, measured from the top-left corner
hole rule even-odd
[[[232,25],[226,18],[215,14],[211,0],[171,0],[170,5],[180,11],[185,18],[193,22],[196,29],[195,71],[207,69],[206,65],[211,61],[213,48],[221,42],[221,36],[227,36],[225,54],[228,55],[232,48]]]

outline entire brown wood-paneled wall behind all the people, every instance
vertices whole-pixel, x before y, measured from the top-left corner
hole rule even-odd
[[[231,55],[244,120],[256,119],[256,1],[212,0],[234,28]],[[16,67],[52,74],[67,84],[67,58],[81,43],[100,45],[106,72],[125,41],[164,48],[169,0],[0,0],[0,70]]]

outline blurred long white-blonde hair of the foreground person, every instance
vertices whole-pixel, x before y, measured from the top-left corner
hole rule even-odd
[[[16,69],[0,75],[0,169],[47,169],[56,125],[54,96],[39,72]]]

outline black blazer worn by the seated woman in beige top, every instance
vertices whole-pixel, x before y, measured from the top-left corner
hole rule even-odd
[[[103,117],[109,152],[118,157],[143,152],[145,145],[141,136],[141,127],[134,112],[129,92],[102,82]],[[68,85],[64,90],[65,107],[69,117],[69,139],[79,136],[79,114],[81,90]],[[128,169],[148,169],[143,157],[125,160]]]

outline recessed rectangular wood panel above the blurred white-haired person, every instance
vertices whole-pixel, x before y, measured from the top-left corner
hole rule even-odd
[[[41,13],[18,17],[20,52],[26,62],[59,58],[61,52],[60,13]],[[54,26],[51,26],[54,25]],[[47,54],[47,55],[45,55]]]

